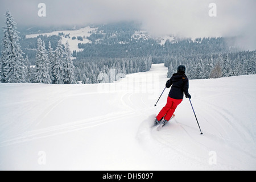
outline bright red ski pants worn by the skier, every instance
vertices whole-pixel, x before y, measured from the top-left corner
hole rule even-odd
[[[169,121],[172,117],[172,115],[174,114],[174,111],[176,109],[176,107],[182,102],[182,99],[174,99],[171,97],[167,98],[167,104],[166,106],[163,107],[163,109],[160,111],[160,113],[158,114],[158,116],[156,117],[156,119],[158,119],[158,121],[160,121],[161,119],[166,119],[167,121]]]

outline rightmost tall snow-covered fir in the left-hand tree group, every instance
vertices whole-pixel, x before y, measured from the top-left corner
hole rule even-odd
[[[71,59],[71,50],[68,42],[65,43],[64,84],[75,84],[75,67]]]

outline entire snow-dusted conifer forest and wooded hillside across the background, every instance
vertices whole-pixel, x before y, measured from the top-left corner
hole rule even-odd
[[[19,37],[16,23],[6,12],[1,51],[1,82],[39,82],[45,84],[95,84],[112,82],[125,75],[146,72],[152,63],[164,63],[167,77],[180,64],[190,79],[255,74],[255,51],[239,51],[233,38],[171,37],[164,40],[141,31],[139,23],[109,23],[94,27],[87,37],[64,34]],[[22,33],[22,35],[24,32]],[[80,50],[68,41],[80,41]],[[89,43],[83,43],[88,39]],[[13,48],[13,49],[12,49]]]

